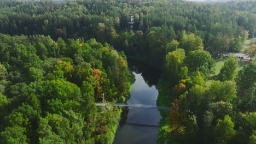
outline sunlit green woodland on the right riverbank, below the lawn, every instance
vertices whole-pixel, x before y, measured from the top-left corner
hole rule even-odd
[[[213,79],[209,52],[168,52],[158,103],[172,109],[161,111],[158,143],[255,143],[256,63],[237,73],[237,62],[230,54]]]

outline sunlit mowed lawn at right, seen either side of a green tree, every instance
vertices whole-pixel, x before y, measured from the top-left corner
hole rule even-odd
[[[219,74],[220,69],[223,67],[225,61],[228,58],[222,57],[222,58],[214,58],[214,61],[216,61],[216,65],[214,67],[214,74],[211,74],[212,79],[216,78],[216,76]],[[245,66],[246,64],[251,63],[252,61],[248,61],[247,59],[238,59],[238,65],[236,68],[236,71],[238,72]]]

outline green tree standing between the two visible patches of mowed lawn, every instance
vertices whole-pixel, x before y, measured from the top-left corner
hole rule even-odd
[[[236,68],[237,68],[237,58],[235,55],[229,55],[228,61],[226,61],[220,69],[218,79],[220,81],[231,81],[235,79]]]

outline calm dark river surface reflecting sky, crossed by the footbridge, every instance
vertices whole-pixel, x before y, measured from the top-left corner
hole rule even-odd
[[[155,106],[158,98],[158,89],[155,85],[161,75],[160,70],[134,60],[129,60],[128,64],[136,81],[132,85],[131,97],[126,103]],[[124,109],[114,144],[156,143],[160,119],[159,111],[155,109]]]

